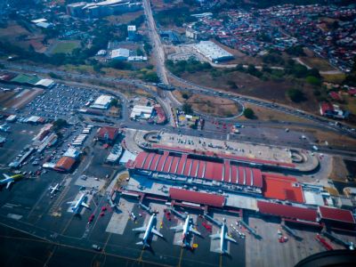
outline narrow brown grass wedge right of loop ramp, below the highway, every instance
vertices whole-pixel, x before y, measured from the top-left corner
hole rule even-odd
[[[296,117],[283,112],[279,112],[272,109],[256,106],[251,103],[245,103],[246,108],[253,109],[255,112],[255,118],[262,121],[290,121],[299,123],[311,123],[310,120],[302,117]],[[246,117],[239,117],[239,120],[248,120]]]

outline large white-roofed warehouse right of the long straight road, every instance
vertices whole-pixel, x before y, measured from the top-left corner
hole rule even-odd
[[[198,53],[203,54],[209,61],[218,62],[233,59],[233,55],[214,44],[211,41],[200,41],[200,43],[195,44],[195,48]]]

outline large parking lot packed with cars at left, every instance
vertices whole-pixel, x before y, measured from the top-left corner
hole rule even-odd
[[[28,103],[23,112],[39,117],[68,119],[69,115],[85,107],[85,103],[95,100],[100,94],[93,89],[55,85]]]

